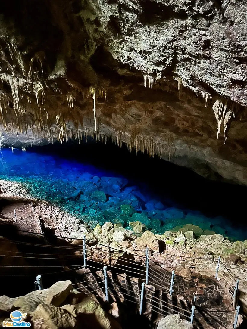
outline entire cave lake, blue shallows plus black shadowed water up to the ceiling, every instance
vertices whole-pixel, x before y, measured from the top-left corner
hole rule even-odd
[[[246,187],[209,181],[157,157],[91,141],[2,148],[0,158],[1,179],[23,182],[34,197],[94,225],[140,220],[162,234],[193,224],[247,239]]]

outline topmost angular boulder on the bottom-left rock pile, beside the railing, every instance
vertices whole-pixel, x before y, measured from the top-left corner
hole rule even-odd
[[[71,290],[73,290],[71,281],[58,281],[48,289],[45,303],[59,306],[65,301]]]

